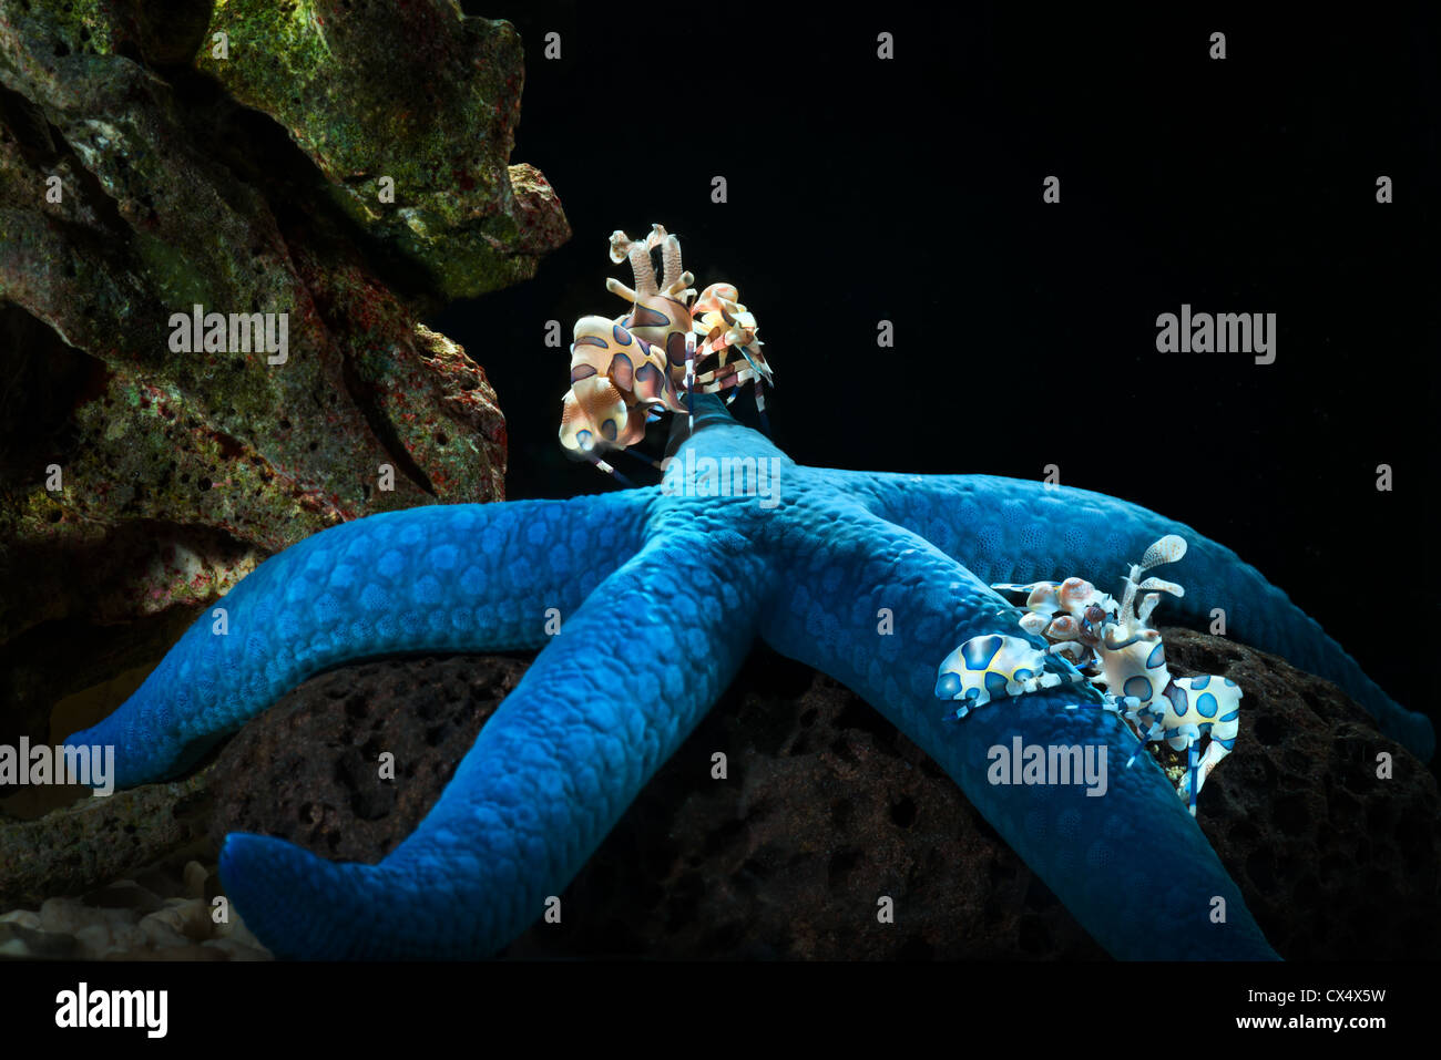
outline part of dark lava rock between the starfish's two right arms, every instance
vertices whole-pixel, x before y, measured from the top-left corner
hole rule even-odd
[[[1223,638],[1161,632],[1173,673],[1222,674],[1245,693],[1199,819],[1277,952],[1435,959],[1441,799],[1427,766],[1330,681]]]

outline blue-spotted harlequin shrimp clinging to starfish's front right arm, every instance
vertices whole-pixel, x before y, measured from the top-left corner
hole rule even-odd
[[[1172,677],[1166,668],[1166,648],[1148,625],[1150,616],[1163,592],[1183,596],[1185,589],[1159,578],[1138,579],[1185,554],[1186,540],[1177,534],[1151,544],[1125,575],[1120,602],[1079,578],[991,588],[1027,593],[1022,628],[1045,637],[1048,651],[1066,657],[1088,680],[1105,687],[1108,701],[1124,711],[1141,746],[1164,740],[1172,750],[1186,750],[1177,791],[1195,815],[1206,778],[1235,746],[1241,688],[1228,677]],[[1203,755],[1197,746],[1202,736],[1208,737]],[[1134,760],[1136,755],[1127,766]]]

